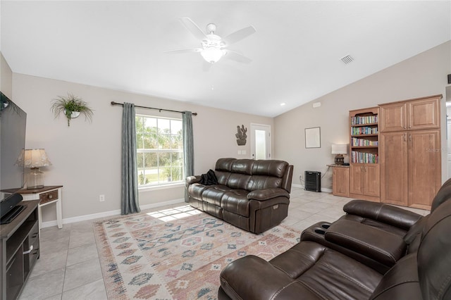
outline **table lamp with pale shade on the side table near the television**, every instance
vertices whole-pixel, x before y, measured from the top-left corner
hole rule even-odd
[[[18,161],[17,164],[30,168],[30,172],[27,174],[27,189],[44,187],[44,172],[39,168],[51,165],[45,149],[26,149],[23,162]]]

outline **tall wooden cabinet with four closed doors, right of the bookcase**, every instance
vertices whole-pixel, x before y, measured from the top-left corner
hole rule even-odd
[[[430,209],[441,185],[441,95],[381,104],[381,201]]]

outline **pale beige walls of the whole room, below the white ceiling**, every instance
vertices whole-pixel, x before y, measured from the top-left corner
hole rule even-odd
[[[324,173],[326,165],[333,163],[330,144],[349,142],[348,111],[420,96],[445,96],[446,75],[451,73],[450,56],[451,42],[447,42],[276,118],[17,73],[13,73],[10,94],[27,112],[27,148],[45,148],[53,163],[45,170],[46,185],[64,185],[63,218],[74,218],[120,208],[122,109],[111,106],[111,101],[199,113],[193,117],[196,174],[214,168],[219,157],[248,157],[237,156],[237,150],[250,154],[250,139],[246,146],[237,146],[235,142],[237,125],[244,124],[248,129],[250,123],[271,125],[271,153],[274,158],[295,165],[293,183],[299,184],[299,175],[303,175],[304,170]],[[3,63],[1,70],[4,72]],[[91,104],[95,110],[92,124],[78,118],[68,127],[65,118],[54,119],[50,111],[51,99],[67,92]],[[313,102],[321,102],[321,106],[312,108]],[[445,111],[443,100],[442,128],[445,128]],[[307,127],[321,127],[321,148],[304,148],[304,128]],[[445,146],[445,130],[442,135]],[[447,177],[445,152],[444,178]],[[326,176],[322,185],[330,188],[331,177]],[[105,194],[105,202],[99,202],[99,194]],[[142,205],[182,198],[183,187],[140,192]],[[44,209],[44,222],[55,219],[54,209]]]

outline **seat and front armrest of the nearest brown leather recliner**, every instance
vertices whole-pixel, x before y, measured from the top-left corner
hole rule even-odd
[[[233,299],[369,299],[381,278],[366,265],[314,242],[296,244],[269,262],[245,256],[220,277]]]

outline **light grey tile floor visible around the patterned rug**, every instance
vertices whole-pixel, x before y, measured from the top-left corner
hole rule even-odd
[[[325,192],[307,192],[293,187],[288,217],[283,225],[304,230],[319,221],[333,222],[343,215],[342,207],[351,199],[333,196]],[[152,211],[167,208],[171,213],[175,204]],[[410,209],[421,215],[428,211]],[[185,213],[180,208],[178,213]],[[161,212],[161,213],[168,213]],[[113,217],[110,217],[113,218]],[[20,295],[27,299],[107,299],[104,280],[101,275],[100,261],[94,239],[92,222],[64,224],[62,229],[48,227],[41,230],[41,254]]]

